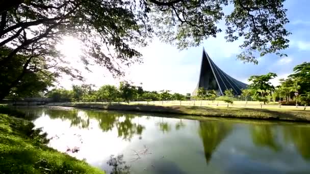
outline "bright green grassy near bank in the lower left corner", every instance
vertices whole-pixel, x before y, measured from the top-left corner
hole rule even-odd
[[[0,112],[6,112],[0,113],[0,173],[104,173],[45,146],[45,134],[33,130],[23,114],[5,108]]]

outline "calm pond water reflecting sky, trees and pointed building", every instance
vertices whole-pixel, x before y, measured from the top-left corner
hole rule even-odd
[[[123,155],[131,173],[310,173],[310,125],[157,117],[63,107],[23,108],[53,137],[48,146],[111,171]],[[138,155],[136,155],[138,153]],[[121,166],[120,166],[121,167]]]

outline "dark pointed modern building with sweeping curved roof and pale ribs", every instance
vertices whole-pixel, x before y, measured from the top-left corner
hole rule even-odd
[[[233,89],[235,95],[241,95],[241,90],[246,89],[247,84],[222,71],[203,49],[199,81],[192,95],[195,96],[198,88],[201,87],[205,90],[215,90],[218,95],[224,95],[227,89]]]

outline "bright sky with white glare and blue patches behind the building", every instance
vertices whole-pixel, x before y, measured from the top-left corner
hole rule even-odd
[[[236,59],[236,55],[241,52],[239,45],[243,40],[228,43],[224,39],[224,32],[219,33],[217,38],[205,40],[198,47],[185,50],[178,50],[175,46],[164,44],[154,38],[147,47],[138,49],[143,54],[143,63],[126,69],[124,77],[114,79],[105,68],[92,66],[92,72],[82,71],[86,78],[85,83],[100,87],[104,84],[118,85],[119,81],[128,80],[136,85],[142,83],[143,89],[147,91],[171,90],[171,92],[181,94],[192,93],[198,82],[204,48],[213,62],[231,77],[249,83],[247,79],[251,75],[273,72],[278,77],[271,82],[277,85],[278,79],[286,78],[293,72],[296,65],[310,61],[309,6],[310,1],[307,0],[285,2],[285,8],[288,9],[287,16],[290,20],[286,28],[292,33],[289,37],[290,47],[282,51],[288,55],[287,57],[268,54],[258,59],[258,65],[244,64]],[[220,26],[224,26],[223,22]],[[68,38],[64,45],[71,56],[79,53],[77,51],[79,45],[73,39]],[[81,83],[71,81],[66,77],[60,79],[61,86],[66,89],[70,89],[72,84]]]

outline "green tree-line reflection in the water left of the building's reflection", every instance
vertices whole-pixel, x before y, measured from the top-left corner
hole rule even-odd
[[[82,129],[89,129],[90,119],[98,121],[98,127],[102,131],[111,131],[113,128],[117,129],[118,136],[130,141],[135,134],[140,135],[145,126],[133,122],[137,115],[122,114],[117,112],[106,112],[96,110],[63,110],[63,109],[47,109],[45,111],[51,119],[70,120],[71,126],[77,126]]]

